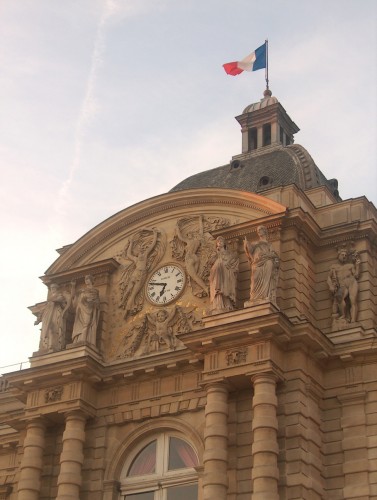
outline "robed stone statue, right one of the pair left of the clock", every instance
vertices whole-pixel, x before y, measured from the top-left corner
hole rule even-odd
[[[72,282],[72,299],[75,309],[72,343],[88,342],[96,345],[97,327],[100,314],[100,299],[93,286],[93,276],[85,276],[85,287],[76,293],[76,283]]]

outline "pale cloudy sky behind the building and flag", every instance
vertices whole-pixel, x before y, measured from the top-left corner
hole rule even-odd
[[[39,343],[39,276],[112,214],[241,152],[264,71],[343,199],[377,204],[375,0],[0,0],[0,367]],[[0,373],[9,368],[0,368]]]

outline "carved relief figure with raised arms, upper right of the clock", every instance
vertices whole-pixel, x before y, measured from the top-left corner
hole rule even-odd
[[[189,278],[189,284],[193,288],[193,283],[198,285],[200,292],[195,293],[198,297],[206,297],[208,288],[204,280],[199,275],[200,259],[197,255],[201,240],[203,239],[203,221],[199,216],[199,231],[188,231],[184,234],[179,226],[179,221],[176,225],[176,236],[185,244],[185,267]]]

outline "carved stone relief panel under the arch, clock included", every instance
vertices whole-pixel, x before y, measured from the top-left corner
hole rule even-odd
[[[221,217],[192,215],[145,227],[128,238],[114,257],[121,266],[112,276],[105,359],[182,346],[176,334],[197,328],[208,308],[215,253],[210,232],[229,225]]]

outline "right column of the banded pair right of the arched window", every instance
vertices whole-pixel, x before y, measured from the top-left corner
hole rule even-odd
[[[252,500],[279,500],[277,457],[278,421],[276,416],[277,377],[261,373],[252,377],[253,397],[253,494]]]

